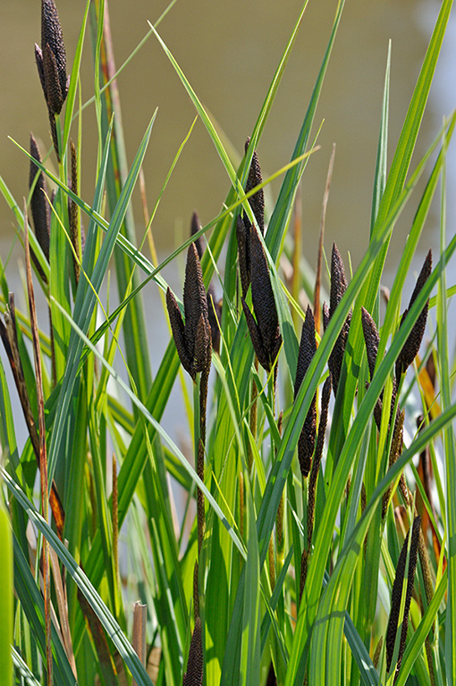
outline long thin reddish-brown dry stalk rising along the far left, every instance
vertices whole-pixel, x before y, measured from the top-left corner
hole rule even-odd
[[[49,521],[49,498],[47,488],[47,456],[46,456],[46,419],[45,399],[43,396],[43,378],[41,374],[41,354],[39,350],[39,334],[37,322],[37,310],[35,307],[35,293],[31,278],[30,245],[29,245],[29,222],[27,218],[27,203],[24,199],[24,233],[25,233],[25,265],[27,272],[27,291],[30,308],[30,329],[33,345],[33,357],[35,360],[35,377],[37,382],[38,399],[38,433],[39,433],[39,474],[41,479],[41,513]],[[51,644],[51,580],[49,573],[49,543],[43,538],[43,581],[44,581],[44,604],[46,623],[46,670],[47,683],[53,683],[52,674],[52,644]]]

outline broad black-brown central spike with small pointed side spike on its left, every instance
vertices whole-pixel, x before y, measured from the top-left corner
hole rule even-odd
[[[252,303],[256,319],[243,298],[242,307],[258,362],[269,373],[282,346],[282,336],[266,254],[255,227],[251,228],[250,247]]]

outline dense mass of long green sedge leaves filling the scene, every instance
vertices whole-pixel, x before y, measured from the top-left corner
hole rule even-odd
[[[247,186],[248,192],[254,151],[260,146],[308,3],[291,27],[291,38],[237,169],[189,79],[158,34],[164,15],[151,25],[126,63],[137,59],[146,39],[159,42],[206,127],[229,183],[222,212],[160,264],[156,264],[153,239],[149,243],[152,259],[143,252],[146,235],[138,241],[131,210],[158,115],[150,113],[137,154],[128,164],[112,46],[105,31],[105,4],[102,0],[87,3],[65,109],[62,114],[51,113],[57,146],[49,155],[59,153],[58,173],[47,169],[46,158],[45,163],[36,162],[37,171],[57,188],[48,261],[30,231],[30,249],[36,258],[34,282],[46,298],[51,322],[50,336],[38,332],[44,406],[39,406],[40,389],[30,353],[30,314],[14,310],[3,268],[0,276],[4,359],[11,364],[20,388],[28,430],[25,445],[18,446],[18,418],[12,411],[15,390],[8,386],[0,363],[0,470],[9,503],[9,517],[0,508],[2,683],[45,684],[46,646],[51,648],[52,678],[59,685],[111,686],[132,680],[144,686],[180,686],[182,680],[187,686],[454,683],[456,404],[452,374],[456,363],[450,357],[448,311],[456,286],[447,281],[451,280],[448,264],[456,250],[456,237],[447,239],[446,235],[445,155],[455,114],[443,121],[422,159],[411,164],[452,2],[441,4],[389,171],[388,112],[394,103],[389,100],[388,54],[384,98],[379,103],[367,251],[348,283],[340,276],[340,261],[336,264],[333,258],[332,300],[323,317],[325,328],[317,324],[315,348],[309,316],[311,352],[306,353],[305,364],[300,362],[304,372],[296,387],[305,306],[292,301],[280,259],[283,251],[294,249],[288,227],[308,159],[316,150],[315,113],[344,3],[337,4],[291,162],[257,188]],[[94,96],[82,104],[80,63],[89,26],[96,76]],[[52,57],[47,54],[44,63],[49,71],[46,78],[51,79]],[[49,83],[46,88],[49,100]],[[75,183],[70,144],[75,138],[78,159],[83,149],[81,113],[90,105],[97,117],[98,155],[97,180],[88,203]],[[148,231],[154,227],[156,207],[192,130],[193,125],[175,153]],[[29,153],[16,145],[29,164]],[[79,162],[76,166],[80,177],[83,170]],[[277,177],[282,177],[282,186],[266,217],[263,237],[258,231],[255,198]],[[418,181],[423,179],[425,189],[416,197]],[[404,283],[421,247],[439,184],[440,251],[433,271],[410,301],[410,295],[402,298]],[[18,232],[25,233],[31,217],[3,178],[0,192]],[[384,261],[395,224],[410,197],[418,209],[381,317]],[[87,226],[84,240],[80,216]],[[244,288],[242,304],[238,217],[247,236],[246,254],[251,257],[253,247],[251,264],[257,269],[252,287]],[[193,248],[193,272],[189,270],[198,275],[198,288],[187,283],[181,299],[183,287],[175,297],[168,294],[173,331],[170,328],[169,344],[154,376],[142,298],[149,297],[151,289],[160,292],[164,313],[156,312],[158,325],[166,314],[168,288],[162,271],[198,239],[204,244],[201,270]],[[243,257],[244,282],[249,258]],[[80,269],[74,268],[74,261]],[[102,296],[111,262],[120,301],[114,310]],[[292,263],[296,269],[299,259]],[[206,303],[204,296],[204,287],[209,290],[215,276],[223,289],[218,317],[219,304],[212,297]],[[309,297],[313,295],[309,291],[315,274],[296,270],[293,280],[306,287]],[[198,308],[192,303],[197,291]],[[409,302],[407,316],[401,317]],[[435,337],[421,347],[422,357],[416,357],[409,372],[401,373],[396,360],[404,346],[413,348],[411,339],[417,344],[419,326],[415,324],[426,319],[423,312],[428,302]],[[319,310],[322,305],[317,302]],[[362,307],[370,316],[366,320],[363,315],[364,325],[368,321],[371,327],[368,360]],[[188,316],[189,325],[184,325],[181,314]],[[206,406],[206,374],[211,366],[207,322],[212,327],[213,352]],[[221,341],[219,349],[215,333]],[[418,337],[418,347],[420,342]],[[183,350],[191,379],[183,378],[176,345],[181,359]],[[254,349],[264,368],[258,366]],[[261,353],[265,350],[266,364]],[[119,358],[122,366],[117,364]],[[188,443],[193,446],[195,468],[193,459],[184,455],[163,425],[180,375],[193,431]],[[325,416],[321,397],[324,383],[328,390],[328,375],[337,393],[329,407],[326,431],[325,422],[319,425],[319,416]],[[422,415],[418,429],[413,407]],[[38,440],[39,417],[46,421],[46,437],[41,437],[46,438],[46,449]],[[297,447],[302,431],[313,432],[307,443],[310,452],[323,450],[319,472],[316,468],[313,473],[310,466],[308,474],[308,465],[304,475],[300,472]],[[417,463],[416,456],[418,466],[412,462]],[[46,470],[48,477],[49,522],[39,512],[35,491],[39,469]],[[180,487],[177,503],[176,484]],[[192,521],[197,500],[198,527]],[[411,523],[419,522],[417,514],[421,533],[418,540],[416,523],[410,551],[407,541],[411,537],[405,544],[404,538]],[[42,595],[45,540],[52,550],[50,635]],[[142,629],[132,626],[131,602],[135,600],[148,606],[146,665],[139,659]],[[391,625],[397,633],[389,636],[385,648],[388,615],[394,617]],[[402,626],[406,627],[405,640],[401,639]],[[8,681],[10,674],[15,681]]]

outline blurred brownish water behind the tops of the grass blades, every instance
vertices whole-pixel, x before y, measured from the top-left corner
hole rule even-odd
[[[155,22],[168,0],[109,0],[116,66],[119,67],[148,32],[147,20]],[[264,177],[288,163],[307,109],[308,100],[325,53],[336,0],[310,0],[300,34],[293,48],[283,83],[263,137],[258,155]],[[69,69],[77,43],[84,0],[58,0]],[[241,156],[245,138],[255,124],[258,111],[291,30],[301,0],[178,0],[159,26],[182,70],[200,100],[216,121],[233,155]],[[350,0],[342,14],[323,95],[317,110],[316,127],[325,120],[318,143],[320,151],[308,163],[302,183],[304,250],[309,264],[316,263],[317,240],[325,177],[333,144],[336,144],[333,184],[326,215],[325,249],[336,240],[347,264],[347,253],[355,267],[367,247],[376,146],[388,41],[392,40],[390,99],[390,150],[396,145],[407,111],[428,38],[439,9],[436,0]],[[40,42],[39,0],[2,0],[0,21],[0,173],[21,200],[27,194],[29,163],[7,138],[28,147],[30,130],[42,150],[50,146],[46,106],[34,60],[34,43]],[[93,93],[93,68],[88,33],[81,72],[82,101]],[[451,112],[456,93],[456,21],[454,15],[443,45],[435,84],[418,142],[418,155],[426,151],[443,114]],[[156,38],[149,38],[118,79],[122,121],[131,162],[148,121],[158,107],[156,123],[144,164],[148,205],[153,207],[173,157],[190,129],[195,111]],[[94,188],[96,122],[93,105],[83,113],[81,195],[90,203]],[[77,131],[74,130],[76,136]],[[456,178],[454,145],[449,155],[448,183]],[[50,157],[50,163],[54,155]],[[391,157],[390,157],[391,162]],[[221,209],[229,188],[222,163],[207,132],[197,122],[172,180],[166,189],[153,224],[160,255],[168,254],[186,238],[190,216],[198,210],[203,224]],[[275,198],[279,181],[270,188]],[[454,231],[454,193],[449,193],[448,232]],[[418,194],[394,231],[387,262],[386,280],[398,263]],[[438,213],[435,208],[420,246],[416,269],[429,247],[438,248]],[[137,235],[142,238],[144,222],[135,196]],[[0,248],[3,261],[14,246],[7,273],[10,283],[19,284],[17,259],[21,245],[15,238],[13,216],[0,198]],[[454,273],[454,270],[453,270]],[[389,274],[389,277],[388,277]],[[177,284],[175,274],[167,278]],[[414,282],[410,274],[407,294]],[[454,279],[449,279],[449,285]],[[388,285],[388,284],[386,284]],[[19,287],[19,286],[18,286]],[[19,287],[20,288],[20,287]],[[181,293],[180,287],[176,289]],[[151,293],[151,291],[153,291]],[[156,289],[149,287],[147,310],[158,302]],[[407,298],[409,295],[406,296]],[[46,314],[41,318],[46,326]],[[152,332],[157,351],[165,346],[165,329]]]

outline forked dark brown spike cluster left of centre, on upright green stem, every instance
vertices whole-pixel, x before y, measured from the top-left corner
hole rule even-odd
[[[182,366],[195,381],[198,372],[209,371],[212,346],[206,290],[194,243],[191,243],[189,247],[185,269],[183,287],[185,323],[171,289],[166,292],[166,305],[173,330],[174,343]]]

